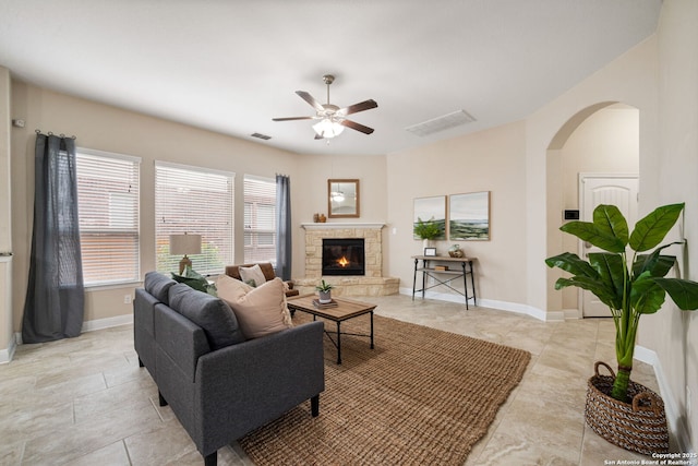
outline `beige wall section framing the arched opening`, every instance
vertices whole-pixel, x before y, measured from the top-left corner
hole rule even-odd
[[[652,177],[642,174],[657,155],[657,37],[652,36],[526,120],[529,207],[526,224],[530,241],[526,246],[529,260],[525,276],[529,306],[546,309],[549,313],[562,309],[562,294],[553,286],[558,273],[543,262],[545,256],[563,251],[557,228],[564,188],[559,180],[555,184],[547,160],[555,157],[562,164],[564,157],[558,152],[574,130],[600,108],[623,103],[639,110],[640,192],[653,192]],[[549,202],[550,199],[557,204]],[[642,205],[640,202],[641,212]]]

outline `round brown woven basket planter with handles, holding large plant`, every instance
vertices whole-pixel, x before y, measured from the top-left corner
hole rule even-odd
[[[611,375],[600,375],[604,366]],[[615,372],[609,365],[598,361],[594,375],[587,383],[585,419],[589,427],[609,442],[625,450],[651,455],[669,452],[669,431],[664,402],[650,389],[630,381],[628,396],[633,403],[623,403],[611,396]]]

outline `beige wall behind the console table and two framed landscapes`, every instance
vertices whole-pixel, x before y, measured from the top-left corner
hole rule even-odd
[[[490,241],[436,241],[436,249],[445,254],[457,242],[479,258],[477,291],[484,300],[526,302],[525,141],[526,124],[516,122],[388,156],[388,275],[400,278],[404,292],[412,287],[410,256],[423,248],[412,239],[414,198],[490,191]]]

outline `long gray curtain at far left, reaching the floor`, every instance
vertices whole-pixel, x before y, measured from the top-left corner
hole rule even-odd
[[[34,232],[22,340],[77,336],[84,315],[75,141],[37,134]]]

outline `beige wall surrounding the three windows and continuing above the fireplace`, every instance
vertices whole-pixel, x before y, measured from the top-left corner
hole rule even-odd
[[[291,177],[293,230],[293,275],[303,275],[304,253],[300,223],[312,222],[314,212],[327,211],[327,178],[361,179],[362,220],[384,219],[384,157],[302,156],[209,131],[152,118],[107,105],[50,92],[14,81],[12,115],[26,120],[24,129],[12,130],[12,237],[15,246],[13,273],[13,327],[21,328],[24,292],[28,274],[34,202],[35,129],[76,135],[81,147],[134,155],[141,163],[141,271],[155,266],[154,163],[167,160],[236,172],[236,198],[242,199],[242,177],[251,174],[274,178]],[[242,210],[236,212],[242,225]],[[236,258],[242,261],[242,230],[236,232]],[[89,290],[85,321],[130,314],[124,295],[135,285]]]

